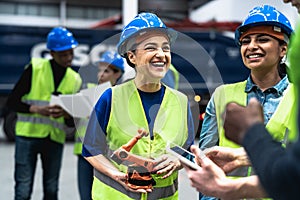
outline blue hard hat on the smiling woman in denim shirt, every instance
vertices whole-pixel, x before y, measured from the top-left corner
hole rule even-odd
[[[235,42],[240,46],[240,37],[245,30],[254,26],[275,26],[279,30],[290,37],[293,33],[288,18],[278,11],[275,7],[270,5],[257,6],[249,11],[247,18],[235,30]]]

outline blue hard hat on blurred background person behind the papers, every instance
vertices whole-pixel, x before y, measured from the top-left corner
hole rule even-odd
[[[124,60],[123,58],[115,51],[105,51],[99,62],[105,62],[108,63],[110,65],[115,66],[116,68],[118,68],[119,70],[121,70],[122,72],[124,72]]]

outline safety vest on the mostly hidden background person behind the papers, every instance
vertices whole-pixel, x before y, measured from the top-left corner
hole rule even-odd
[[[95,84],[95,83],[87,83],[87,88],[93,88],[96,86],[97,86],[97,84]],[[76,123],[75,142],[74,142],[74,149],[73,149],[73,153],[75,155],[81,155],[82,142],[83,142],[83,138],[85,136],[88,121],[89,121],[88,119],[82,118],[82,119],[79,119],[78,123]]]

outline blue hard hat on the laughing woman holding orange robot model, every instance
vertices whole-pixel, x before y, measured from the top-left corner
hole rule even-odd
[[[128,46],[128,41],[146,30],[159,30],[168,36],[170,44],[172,44],[177,37],[177,32],[171,28],[167,28],[166,25],[162,22],[153,13],[140,13],[138,14],[127,26],[123,28],[121,33],[120,41],[117,45],[118,53],[124,57],[126,52],[130,50],[131,46]]]

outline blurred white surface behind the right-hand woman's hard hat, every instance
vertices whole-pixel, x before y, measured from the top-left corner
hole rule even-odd
[[[195,22],[206,22],[213,19],[242,22],[252,8],[263,4],[276,7],[295,26],[298,19],[297,10],[290,3],[283,3],[283,0],[214,0],[191,12],[190,18]]]

